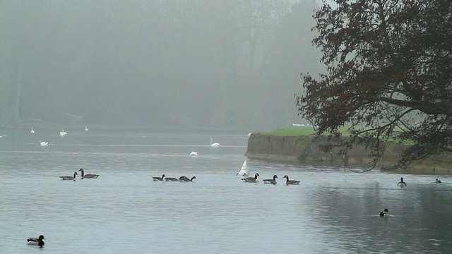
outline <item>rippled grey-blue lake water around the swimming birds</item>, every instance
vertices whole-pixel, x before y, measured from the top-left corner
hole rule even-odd
[[[451,253],[448,176],[249,160],[279,181],[243,183],[247,133],[35,131],[0,133],[0,253]],[[80,168],[100,177],[59,179]]]

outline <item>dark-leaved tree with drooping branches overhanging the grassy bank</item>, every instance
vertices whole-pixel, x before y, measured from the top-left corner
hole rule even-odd
[[[304,92],[295,95],[299,116],[336,141],[323,148],[343,147],[346,158],[366,145],[373,162],[366,170],[388,141],[410,144],[393,169],[452,152],[452,1],[328,3],[313,16],[327,71],[302,73]]]

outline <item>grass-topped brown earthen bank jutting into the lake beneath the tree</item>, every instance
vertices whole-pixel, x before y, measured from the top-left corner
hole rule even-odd
[[[323,165],[328,167],[338,167],[344,169],[343,157],[338,154],[338,150],[322,152],[319,149],[321,143],[325,143],[326,138],[314,140],[309,135],[271,135],[262,133],[252,133],[248,140],[246,157],[251,159],[268,159],[280,162],[290,162],[294,164]],[[396,164],[400,151],[404,145],[390,143],[381,158],[378,166],[389,167]],[[369,150],[365,147],[355,147],[347,154],[347,163],[355,169],[362,169],[369,166]],[[448,162],[446,162],[448,161]],[[431,157],[424,161],[412,162],[408,169],[398,169],[391,172],[404,174],[452,174],[451,155],[448,157]]]

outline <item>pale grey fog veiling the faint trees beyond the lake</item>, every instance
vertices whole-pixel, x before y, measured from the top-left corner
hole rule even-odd
[[[301,123],[315,0],[5,0],[0,123],[263,131]]]

